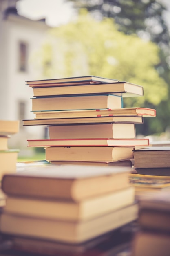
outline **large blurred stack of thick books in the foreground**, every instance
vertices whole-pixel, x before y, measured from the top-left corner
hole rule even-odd
[[[55,256],[102,255],[116,244],[126,241],[127,246],[131,236],[118,236],[118,241],[115,236],[138,216],[134,188],[128,182],[130,169],[28,164],[24,171],[4,175],[7,202],[0,215],[1,234],[14,251]],[[99,248],[103,242],[105,249]]]

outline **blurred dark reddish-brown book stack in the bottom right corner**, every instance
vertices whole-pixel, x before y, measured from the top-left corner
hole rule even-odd
[[[132,256],[170,255],[170,193],[147,195],[139,201],[141,230],[132,242]]]

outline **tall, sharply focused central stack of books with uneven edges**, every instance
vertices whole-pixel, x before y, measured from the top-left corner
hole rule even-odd
[[[154,109],[123,108],[123,97],[142,96],[142,86],[96,76],[27,81],[33,88],[35,119],[24,125],[46,125],[49,139],[28,140],[44,147],[50,162],[118,162],[132,150],[149,145],[137,139],[135,124]]]

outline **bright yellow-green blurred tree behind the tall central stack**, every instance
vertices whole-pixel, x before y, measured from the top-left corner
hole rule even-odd
[[[126,106],[156,106],[167,97],[167,84],[155,70],[157,45],[118,31],[112,18],[97,21],[83,11],[75,22],[51,29],[39,56],[46,78],[93,74],[142,85],[144,97],[127,98]],[[156,131],[153,126],[148,132]]]

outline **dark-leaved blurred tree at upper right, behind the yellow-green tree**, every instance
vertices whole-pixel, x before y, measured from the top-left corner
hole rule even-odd
[[[86,9],[98,20],[104,17],[114,18],[119,31],[124,34],[136,34],[156,43],[159,47],[159,62],[155,64],[155,70],[159,73],[168,86],[168,97],[162,99],[155,106],[158,118],[157,132],[165,131],[170,127],[170,34],[164,20],[166,6],[160,0],[73,0],[75,7]],[[149,55],[148,55],[149,56]],[[159,92],[158,92],[159,93]],[[146,107],[153,107],[148,101]],[[156,122],[156,121],[155,121]],[[145,121],[142,126],[146,133],[149,127],[154,127],[155,122]],[[161,124],[161,125],[160,125]],[[150,132],[155,128],[151,128]]]

